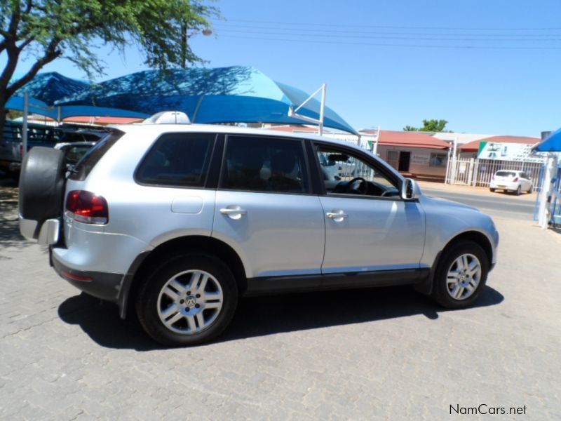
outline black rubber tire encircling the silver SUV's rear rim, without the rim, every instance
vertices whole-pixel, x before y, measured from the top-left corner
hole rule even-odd
[[[202,330],[196,333],[189,333],[187,330],[185,333],[177,333],[161,321],[158,315],[158,305],[161,304],[158,297],[170,279],[189,270],[204,271],[214,277],[222,288],[222,308],[215,319]],[[217,338],[229,325],[237,304],[238,287],[229,267],[215,256],[204,253],[175,255],[163,260],[144,277],[135,298],[137,316],[144,330],[156,342],[173,347],[200,345]],[[204,307],[201,312],[206,312]],[[187,318],[176,323],[180,322],[187,325]]]

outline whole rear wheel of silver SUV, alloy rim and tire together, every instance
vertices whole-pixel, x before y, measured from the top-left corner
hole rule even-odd
[[[176,255],[156,267],[140,287],[137,314],[144,330],[163,345],[198,345],[216,338],[238,301],[234,276],[205,254]]]

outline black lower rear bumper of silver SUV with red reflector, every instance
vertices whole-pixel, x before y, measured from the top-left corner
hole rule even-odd
[[[109,274],[104,272],[83,272],[71,269],[51,254],[51,261],[55,271],[62,279],[66,279],[73,286],[94,297],[119,304],[119,292],[123,281],[123,274]]]

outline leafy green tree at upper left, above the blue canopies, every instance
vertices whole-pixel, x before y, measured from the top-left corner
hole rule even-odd
[[[210,0],[212,1],[212,0]],[[203,62],[187,36],[210,32],[217,8],[205,0],[0,0],[0,111],[19,88],[45,65],[66,58],[88,76],[102,74],[105,62],[95,45],[123,53],[137,44],[150,67],[165,69]],[[13,79],[22,59],[32,65]],[[6,114],[0,112],[0,140]]]

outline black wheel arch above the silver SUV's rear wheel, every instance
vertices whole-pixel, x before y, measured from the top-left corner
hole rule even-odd
[[[245,276],[245,267],[234,248],[231,248],[231,246],[224,243],[224,241],[210,236],[181,236],[165,241],[149,252],[142,253],[135,262],[133,262],[128,270],[128,274],[123,277],[121,291],[119,293],[121,318],[125,319],[130,305],[134,302],[133,298],[137,293],[138,286],[142,283],[143,276],[147,273],[149,267],[162,258],[189,251],[208,253],[224,260],[234,274],[234,278],[238,284],[238,294],[243,295],[243,293],[245,293],[248,286],[247,277]]]

